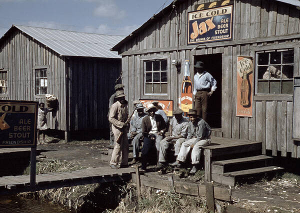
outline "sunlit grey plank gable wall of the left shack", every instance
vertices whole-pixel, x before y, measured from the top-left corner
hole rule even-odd
[[[48,127],[66,130],[65,125],[65,60],[56,52],[20,30],[10,33],[0,46],[0,66],[7,68],[8,94],[0,99],[45,102],[44,95],[35,95],[33,67],[48,65],[47,93],[58,99],[58,110],[48,113]]]

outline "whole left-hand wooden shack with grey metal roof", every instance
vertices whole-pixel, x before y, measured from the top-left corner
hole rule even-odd
[[[123,36],[12,25],[0,38],[0,99],[45,102],[48,127],[67,132],[108,128],[108,100],[121,59],[109,51]]]

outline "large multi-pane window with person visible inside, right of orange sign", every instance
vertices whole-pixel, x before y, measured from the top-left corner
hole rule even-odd
[[[256,93],[292,94],[293,57],[293,49],[256,52]]]

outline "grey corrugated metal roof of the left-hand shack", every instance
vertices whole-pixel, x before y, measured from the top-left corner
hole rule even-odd
[[[109,49],[124,36],[75,32],[34,26],[12,25],[60,55],[120,58]],[[5,36],[5,35],[4,35]]]

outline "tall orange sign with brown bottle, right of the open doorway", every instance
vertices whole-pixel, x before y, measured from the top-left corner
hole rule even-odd
[[[250,56],[237,56],[236,116],[252,116],[253,62]]]

